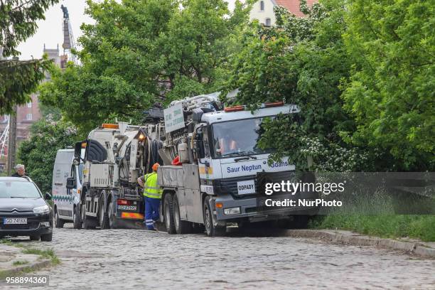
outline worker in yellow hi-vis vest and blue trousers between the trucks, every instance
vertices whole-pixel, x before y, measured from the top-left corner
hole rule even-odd
[[[154,163],[153,172],[137,178],[139,186],[144,188],[145,227],[147,230],[156,230],[154,222],[159,220],[159,207],[163,190],[157,185],[157,168],[159,163]]]

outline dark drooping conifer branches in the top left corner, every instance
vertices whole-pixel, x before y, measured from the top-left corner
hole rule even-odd
[[[0,114],[28,102],[28,94],[36,90],[50,63],[46,59],[18,61],[2,57],[19,55],[18,44],[36,32],[36,21],[44,19],[45,10],[58,1],[0,1]]]

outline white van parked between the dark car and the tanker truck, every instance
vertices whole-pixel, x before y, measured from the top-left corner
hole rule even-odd
[[[53,168],[52,196],[54,203],[55,227],[73,222],[75,229],[82,228],[77,205],[80,204],[83,164],[73,163],[74,149],[60,149],[56,154]],[[67,186],[68,184],[68,186]]]

